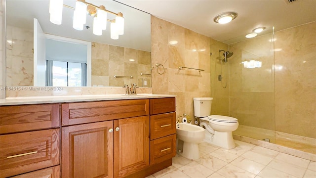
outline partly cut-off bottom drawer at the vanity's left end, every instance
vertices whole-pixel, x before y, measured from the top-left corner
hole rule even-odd
[[[31,173],[13,176],[11,178],[60,178],[60,169],[59,166],[53,166],[50,168],[33,171]]]

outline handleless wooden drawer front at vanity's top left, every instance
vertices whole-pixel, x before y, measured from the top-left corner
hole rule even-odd
[[[58,126],[58,104],[0,106],[0,134]]]

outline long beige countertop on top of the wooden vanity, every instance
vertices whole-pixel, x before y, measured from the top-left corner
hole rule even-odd
[[[26,97],[7,97],[0,99],[0,106],[21,105],[21,104],[42,104],[42,103],[65,103],[83,101],[106,101],[123,99],[149,99],[175,97],[170,94],[91,94],[91,95],[64,95],[64,96],[26,96]]]

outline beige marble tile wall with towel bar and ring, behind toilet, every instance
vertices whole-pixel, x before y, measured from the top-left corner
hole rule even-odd
[[[194,118],[193,97],[210,97],[210,40],[196,32],[152,16],[152,87],[155,94],[175,94],[176,113]],[[170,41],[177,41],[175,45]],[[178,67],[200,68],[179,70]]]

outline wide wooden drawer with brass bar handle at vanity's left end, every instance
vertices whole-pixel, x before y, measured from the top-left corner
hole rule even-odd
[[[0,178],[59,164],[59,129],[0,135]]]

